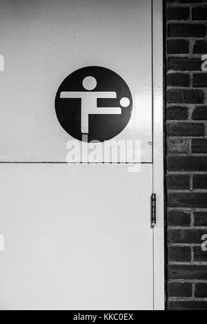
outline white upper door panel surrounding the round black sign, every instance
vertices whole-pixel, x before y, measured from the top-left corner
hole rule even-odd
[[[88,66],[124,79],[132,115],[113,140],[140,141],[136,162],[152,162],[151,0],[1,0],[0,30],[1,162],[66,162],[73,137],[55,97],[68,75]]]

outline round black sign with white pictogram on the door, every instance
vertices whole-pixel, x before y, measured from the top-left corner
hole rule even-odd
[[[83,142],[104,142],[128,124],[132,95],[117,73],[88,66],[64,79],[57,90],[55,110],[59,123],[72,137]]]

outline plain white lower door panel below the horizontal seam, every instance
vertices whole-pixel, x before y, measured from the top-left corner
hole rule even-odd
[[[152,309],[152,165],[1,164],[1,309]]]

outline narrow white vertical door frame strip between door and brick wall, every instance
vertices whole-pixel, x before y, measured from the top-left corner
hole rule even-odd
[[[165,307],[164,281],[164,111],[163,111],[163,3],[152,0],[153,82],[153,191],[157,196],[157,225],[154,231],[154,309]]]

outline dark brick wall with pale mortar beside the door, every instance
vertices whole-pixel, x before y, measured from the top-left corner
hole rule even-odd
[[[168,309],[207,310],[207,0],[164,3]]]

